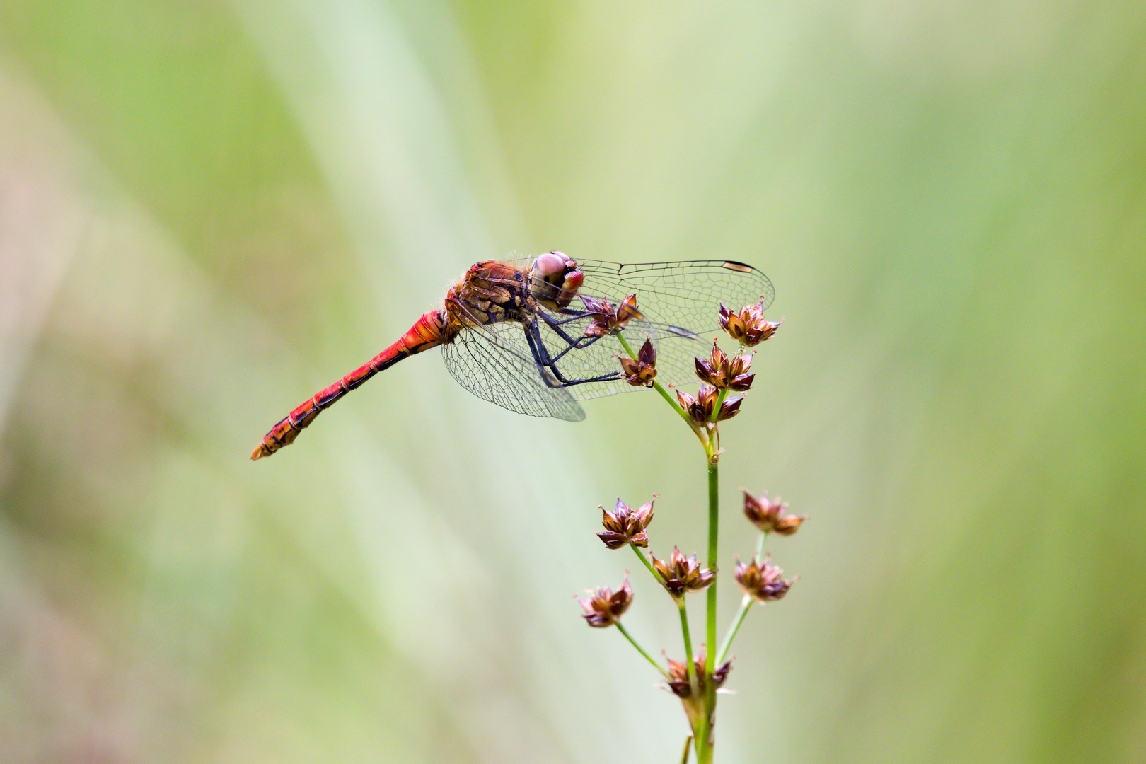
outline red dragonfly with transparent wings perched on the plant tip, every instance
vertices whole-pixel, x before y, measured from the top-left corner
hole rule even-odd
[[[771,305],[768,277],[736,260],[615,263],[562,252],[474,263],[440,308],[270,428],[252,459],[295,442],[315,417],[399,361],[441,346],[446,369],[490,403],[534,417],[584,419],[578,401],[635,389],[619,359],[622,334],[657,351],[657,379],[684,384],[721,304]]]

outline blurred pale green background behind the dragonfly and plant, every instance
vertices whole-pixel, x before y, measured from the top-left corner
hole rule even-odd
[[[5,0],[0,759],[678,761],[572,599],[635,565],[618,495],[704,548],[654,395],[535,420],[432,351],[246,459],[559,249],[745,260],[787,318],[722,559],[739,486],[813,519],[720,761],[1146,761],[1144,244],[1140,2]]]

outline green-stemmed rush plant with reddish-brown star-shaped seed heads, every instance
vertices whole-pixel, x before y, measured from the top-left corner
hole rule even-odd
[[[745,306],[737,312],[721,305],[720,325],[740,347],[729,357],[713,340],[708,357],[696,360],[697,378],[701,383],[696,395],[682,391],[675,391],[676,394],[673,395],[657,381],[657,352],[651,341],[645,340],[639,349],[634,351],[625,334],[617,333],[628,354],[628,357],[620,359],[622,377],[630,385],[656,389],[692,430],[704,449],[708,478],[708,549],[704,565],[696,554],[685,557],[676,546],[667,559],[657,558],[651,551],[645,554],[644,550],[650,545],[647,528],[653,519],[656,495],[636,510],[620,498],[612,511],[601,507],[605,529],[597,535],[602,542],[609,549],[630,548],[676,606],[684,643],[683,661],[667,659],[667,665],[662,664],[621,625],[620,617],[633,601],[628,578],[615,592],[601,588],[590,591],[590,596],[580,602],[584,609],[584,620],[590,627],[615,627],[657,668],[665,679],[665,687],[680,698],[691,731],[684,745],[682,764],[688,762],[690,750],[696,751],[699,764],[711,764],[713,761],[716,695],[729,677],[731,662],[728,656],[732,640],[752,605],[782,599],[796,581],[783,577],[783,570],[772,565],[770,556],[764,554],[764,544],[770,534],[791,536],[807,518],[786,513],[787,504],[771,501],[767,494],[758,498],[744,491],[744,514],[760,529],[760,536],[751,561],[736,561],[733,578],[744,591],[744,598],[723,638],[717,643],[716,586],[720,567],[716,550],[720,536],[720,457],[723,454],[720,446],[720,423],[740,412],[745,396],[752,388],[755,378],[751,371],[754,352],[748,348],[772,337],[782,323],[766,321],[762,304]],[[693,653],[685,600],[689,594],[699,591],[706,592],[705,628],[704,639]],[[717,646],[715,649],[712,648],[714,645]]]

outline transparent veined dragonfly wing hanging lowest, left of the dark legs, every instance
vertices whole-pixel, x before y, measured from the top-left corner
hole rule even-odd
[[[566,388],[545,384],[518,323],[458,332],[452,344],[442,346],[441,357],[457,384],[503,409],[566,422],[584,419],[584,411]]]

